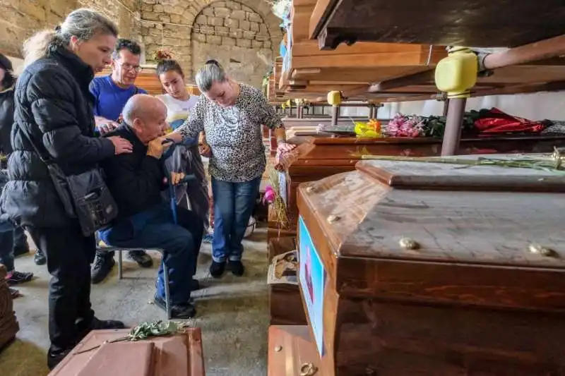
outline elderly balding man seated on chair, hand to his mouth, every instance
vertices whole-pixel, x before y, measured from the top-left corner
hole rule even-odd
[[[161,157],[166,145],[158,139],[165,134],[167,108],[150,95],[134,95],[124,107],[124,123],[105,135],[119,135],[131,142],[131,154],[106,159],[102,167],[107,185],[118,206],[118,217],[111,227],[100,231],[108,245],[124,248],[160,248],[169,271],[172,317],[190,318],[196,314],[190,303],[196,259],[203,236],[203,223],[194,212],[177,209],[174,224],[172,210],[162,198],[167,174]],[[172,174],[178,183],[183,174]],[[165,309],[165,282],[162,265],[157,277],[155,304]]]

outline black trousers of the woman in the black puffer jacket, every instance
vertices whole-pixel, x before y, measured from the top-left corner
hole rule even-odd
[[[94,260],[94,236],[83,236],[80,227],[28,229],[47,257],[49,281],[50,353],[72,348],[90,329],[90,263]]]

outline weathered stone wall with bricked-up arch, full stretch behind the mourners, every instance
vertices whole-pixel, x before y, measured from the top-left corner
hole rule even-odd
[[[171,50],[189,80],[203,61],[217,59],[237,80],[261,85],[283,36],[266,0],[0,0],[0,52],[20,57],[33,32],[81,7],[141,42],[148,63],[157,49]]]

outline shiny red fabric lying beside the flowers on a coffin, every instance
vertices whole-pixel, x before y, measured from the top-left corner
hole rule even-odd
[[[480,133],[540,133],[545,129],[545,126],[538,121],[511,116],[494,107],[490,110],[490,115],[475,121],[475,127]]]

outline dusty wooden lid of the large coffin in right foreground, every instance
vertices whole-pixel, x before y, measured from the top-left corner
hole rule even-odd
[[[298,206],[340,293],[561,310],[564,187],[551,171],[362,161],[302,184]]]

